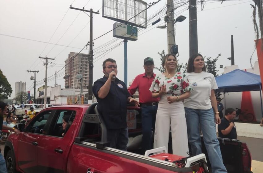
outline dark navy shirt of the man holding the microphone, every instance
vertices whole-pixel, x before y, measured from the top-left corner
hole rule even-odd
[[[110,84],[110,91],[104,99],[98,97],[98,91],[107,81],[107,77],[98,79],[93,85],[93,94],[97,98],[98,111],[102,115],[108,129],[127,127],[127,98],[131,96],[125,83],[118,78]]]

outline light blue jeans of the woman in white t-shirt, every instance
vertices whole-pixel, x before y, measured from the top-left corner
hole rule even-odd
[[[216,125],[213,109],[201,110],[184,108],[187,124],[188,142],[192,154],[202,153],[199,124],[203,133],[205,148],[208,153],[213,173],[225,173],[226,167],[223,164],[219,141],[216,136]]]

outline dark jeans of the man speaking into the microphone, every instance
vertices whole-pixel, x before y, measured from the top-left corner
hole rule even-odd
[[[127,144],[129,141],[128,128],[108,129],[107,136],[108,136],[108,141],[110,142],[110,147],[127,151]]]

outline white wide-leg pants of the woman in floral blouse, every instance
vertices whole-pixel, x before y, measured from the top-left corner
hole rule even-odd
[[[187,154],[189,150],[183,102],[179,101],[169,104],[167,100],[161,99],[156,114],[154,148],[165,146],[168,150],[170,124],[173,154],[189,156]]]

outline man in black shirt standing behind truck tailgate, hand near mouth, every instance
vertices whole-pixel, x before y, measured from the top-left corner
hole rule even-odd
[[[235,109],[226,109],[225,116],[221,119],[221,123],[218,124],[218,137],[237,139],[236,127],[234,123],[235,114]]]

